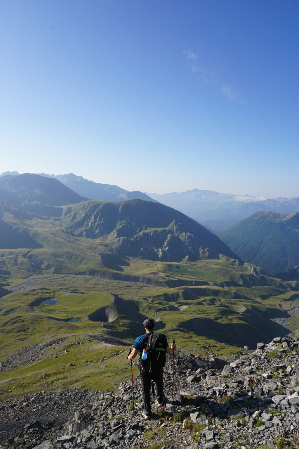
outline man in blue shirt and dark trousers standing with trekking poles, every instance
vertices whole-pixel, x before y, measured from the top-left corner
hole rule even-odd
[[[155,322],[152,318],[146,318],[143,321],[146,334],[137,337],[134,343],[134,348],[129,354],[128,359],[133,360],[137,354],[140,355],[140,380],[142,385],[142,396],[144,410],[141,412],[143,418],[149,419],[151,417],[151,384],[152,380],[156,387],[156,405],[165,405],[167,398],[163,392],[163,368],[165,366],[165,353],[172,354],[176,351],[174,344],[169,348],[166,336],[164,334],[154,334]],[[152,335],[153,334],[153,335]],[[149,350],[150,348],[150,350]],[[147,350],[148,359],[143,361],[141,359],[144,350]],[[152,352],[154,354],[152,355]]]

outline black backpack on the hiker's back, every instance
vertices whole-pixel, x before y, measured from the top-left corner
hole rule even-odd
[[[147,359],[142,360],[140,355],[140,373],[155,374],[162,370],[166,363],[167,338],[164,334],[143,335],[147,339],[145,347]],[[141,351],[142,354],[142,351]]]

